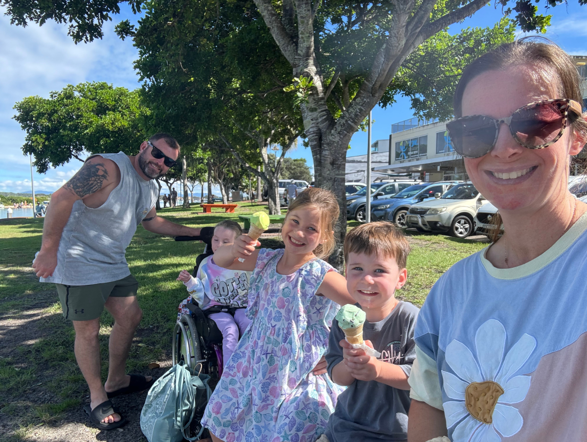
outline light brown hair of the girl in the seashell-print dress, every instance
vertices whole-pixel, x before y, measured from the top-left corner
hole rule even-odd
[[[302,207],[306,206],[315,206],[316,209],[320,210],[322,244],[316,247],[313,252],[320,259],[325,259],[330,256],[335,246],[334,227],[340,215],[338,200],[336,199],[336,195],[330,192],[330,190],[310,187],[298,193],[294,202],[289,205],[285,219],[288,219],[289,212],[292,210],[302,209]]]

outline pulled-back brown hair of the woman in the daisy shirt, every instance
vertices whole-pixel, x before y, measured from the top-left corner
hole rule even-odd
[[[485,53],[465,68],[454,92],[455,118],[463,116],[463,95],[471,80],[484,72],[501,71],[512,66],[537,66],[548,69],[559,81],[559,96],[552,98],[569,98],[578,103],[583,102],[581,78],[571,57],[546,38],[524,37]],[[583,113],[582,118],[573,118],[569,113],[569,121],[575,136],[587,140],[587,113]],[[499,213],[493,217],[492,223],[495,225],[492,234],[492,240],[495,242],[501,230]]]

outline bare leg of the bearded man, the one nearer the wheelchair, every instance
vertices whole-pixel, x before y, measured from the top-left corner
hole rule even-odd
[[[134,332],[143,317],[143,311],[139,307],[136,296],[111,296],[104,307],[114,317],[109,341],[108,379],[104,388],[106,391],[115,391],[129,386],[130,376],[126,374],[126,360],[129,357]],[[146,376],[147,381],[151,379],[151,376]]]

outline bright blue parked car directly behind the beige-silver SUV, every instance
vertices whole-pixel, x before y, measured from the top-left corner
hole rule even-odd
[[[442,195],[460,181],[437,181],[419,183],[406,187],[391,198],[378,200],[371,204],[371,220],[387,220],[399,227],[406,227],[406,215],[410,207],[426,198],[433,198],[435,193]]]

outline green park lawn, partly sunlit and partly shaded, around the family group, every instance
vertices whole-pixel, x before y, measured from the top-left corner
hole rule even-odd
[[[159,215],[192,227],[214,226],[223,219],[238,220],[238,215],[266,209],[266,205],[244,203],[236,213],[198,214],[200,207],[163,209]],[[0,223],[0,319],[25,320],[19,327],[35,331],[21,339],[8,339],[13,349],[0,357],[0,413],[9,416],[12,438],[24,437],[32,427],[54,423],[86,400],[87,386],[73,354],[74,333],[62,317],[55,286],[40,284],[31,263],[41,246],[42,219],[14,219]],[[356,226],[349,222],[349,228]],[[410,235],[412,252],[408,260],[408,282],[397,293],[400,299],[420,306],[430,287],[448,267],[485,245],[446,236]],[[275,247],[279,241],[262,240]],[[127,249],[131,273],[139,280],[139,302],[144,316],[130,350],[130,373],[147,373],[147,365],[170,357],[171,334],[177,305],[186,297],[183,284],[176,281],[181,269],[193,269],[195,257],[204,245],[175,242],[147,232],[141,226]],[[39,299],[43,303],[39,304]],[[101,317],[102,377],[107,374],[107,344],[113,319]],[[31,392],[42,391],[36,401]]]

